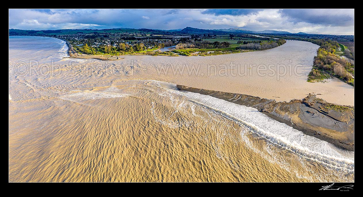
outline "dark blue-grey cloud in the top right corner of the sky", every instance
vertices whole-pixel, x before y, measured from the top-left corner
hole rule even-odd
[[[321,25],[351,26],[354,25],[354,9],[282,9],[282,16],[294,23],[305,22]]]

